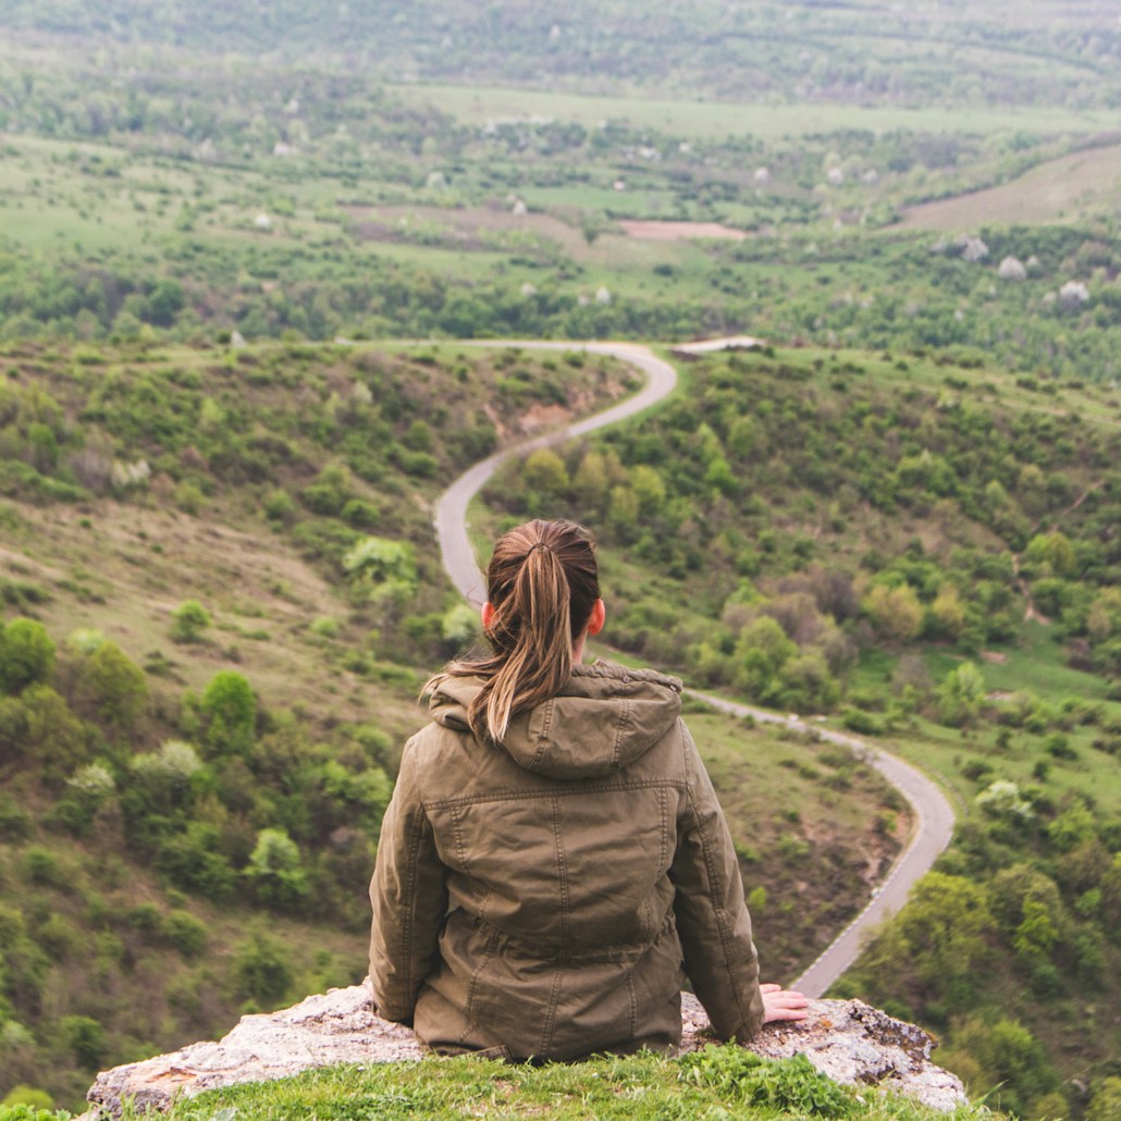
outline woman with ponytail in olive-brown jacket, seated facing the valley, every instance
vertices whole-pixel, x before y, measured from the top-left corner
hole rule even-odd
[[[512,529],[488,592],[493,652],[426,686],[382,825],[378,1013],[443,1054],[562,1060],[673,1048],[686,974],[722,1039],[804,1018],[800,993],[759,985],[680,682],[581,663],[604,621],[587,531]]]

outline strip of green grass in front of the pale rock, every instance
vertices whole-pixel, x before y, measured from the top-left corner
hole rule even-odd
[[[167,1121],[339,1118],[868,1118],[872,1121],[966,1121],[983,1106],[937,1113],[868,1086],[839,1086],[804,1056],[771,1063],[735,1046],[682,1059],[655,1055],[573,1065],[515,1066],[455,1058],[340,1066],[275,1083],[213,1091],[184,1101]],[[141,1114],[126,1110],[122,1121]]]

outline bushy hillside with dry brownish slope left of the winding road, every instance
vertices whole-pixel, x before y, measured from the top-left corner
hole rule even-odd
[[[0,1099],[75,1105],[98,1067],[363,974],[417,691],[478,634],[430,501],[633,376],[307,343],[25,343],[0,369]],[[843,753],[694,724],[789,979],[909,821]],[[797,908],[766,887],[791,878]]]

